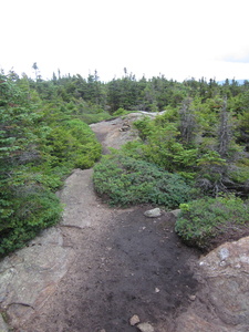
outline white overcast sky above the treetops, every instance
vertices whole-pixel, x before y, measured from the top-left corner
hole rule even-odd
[[[249,79],[248,0],[1,0],[0,68]]]

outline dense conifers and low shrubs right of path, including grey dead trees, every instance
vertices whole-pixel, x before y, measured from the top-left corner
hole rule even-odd
[[[186,97],[136,121],[139,138],[95,166],[96,190],[112,205],[179,207],[176,232],[205,251],[249,235],[247,96],[241,111],[222,95]]]

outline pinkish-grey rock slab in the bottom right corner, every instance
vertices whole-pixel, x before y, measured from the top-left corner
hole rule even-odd
[[[176,332],[249,331],[248,248],[246,237],[226,242],[200,258],[196,277],[203,288],[176,320]]]

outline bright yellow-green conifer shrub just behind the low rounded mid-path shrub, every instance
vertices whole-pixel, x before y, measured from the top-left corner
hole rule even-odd
[[[185,148],[177,142],[179,132],[174,124],[163,123],[164,127],[160,127],[156,121],[145,117],[134,122],[141,141],[126,143],[122,152],[135,159],[153,163],[169,173],[178,173],[183,177],[194,179],[198,149]]]

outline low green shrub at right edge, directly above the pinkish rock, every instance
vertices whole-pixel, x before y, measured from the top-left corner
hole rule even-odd
[[[249,224],[249,205],[235,196],[193,200],[180,205],[176,232],[191,246],[209,250],[237,239]]]

